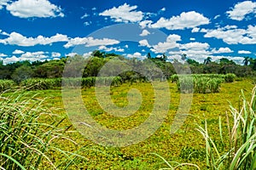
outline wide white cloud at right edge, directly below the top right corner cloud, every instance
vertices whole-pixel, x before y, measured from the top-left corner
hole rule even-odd
[[[247,26],[247,30],[237,29],[236,26],[206,30],[204,37],[222,39],[228,44],[256,44],[256,26]]]

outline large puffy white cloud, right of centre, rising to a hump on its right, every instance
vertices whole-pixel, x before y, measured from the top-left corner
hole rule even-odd
[[[195,11],[183,12],[179,16],[172,16],[170,19],[160,18],[151,25],[153,28],[166,28],[167,30],[183,30],[185,28],[194,28],[195,26],[207,25],[210,21],[202,14]]]

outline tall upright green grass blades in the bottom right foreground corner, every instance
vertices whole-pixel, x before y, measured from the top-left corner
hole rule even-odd
[[[207,167],[212,169],[256,169],[256,87],[252,99],[247,101],[241,92],[241,108],[230,105],[232,120],[227,115],[227,131],[224,133],[223,121],[219,118],[219,139],[221,144],[210,136],[207,122],[198,131],[206,140]],[[224,141],[227,135],[228,141]]]

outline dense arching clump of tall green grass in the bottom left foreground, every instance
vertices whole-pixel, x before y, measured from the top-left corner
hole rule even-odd
[[[0,168],[1,169],[64,169],[69,163],[56,164],[48,150],[64,150],[55,147],[56,139],[67,139],[67,129],[59,127],[64,120],[53,115],[42,104],[44,100],[28,92],[0,94]],[[47,122],[45,121],[47,120]],[[66,154],[67,155],[67,154]],[[72,161],[72,156],[67,161]]]

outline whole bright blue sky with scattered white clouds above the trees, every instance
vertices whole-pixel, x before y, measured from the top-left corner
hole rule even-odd
[[[95,49],[240,64],[256,55],[255,1],[0,0],[0,23],[4,64]]]

